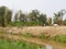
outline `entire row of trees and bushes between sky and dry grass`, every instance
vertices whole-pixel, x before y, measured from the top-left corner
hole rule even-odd
[[[7,7],[0,7],[0,26],[52,26],[53,24],[66,25],[66,20],[63,16],[66,14],[65,10],[54,13],[52,17],[47,17],[45,13],[40,13],[38,10],[32,10],[28,14],[21,10],[15,12],[14,21],[12,22],[13,11]]]

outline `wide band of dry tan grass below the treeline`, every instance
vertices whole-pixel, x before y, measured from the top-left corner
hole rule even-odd
[[[0,27],[0,32],[2,27]],[[28,27],[4,27],[4,32],[14,33],[14,34],[25,34],[32,33],[33,35],[65,35],[66,34],[66,26],[28,26]]]

